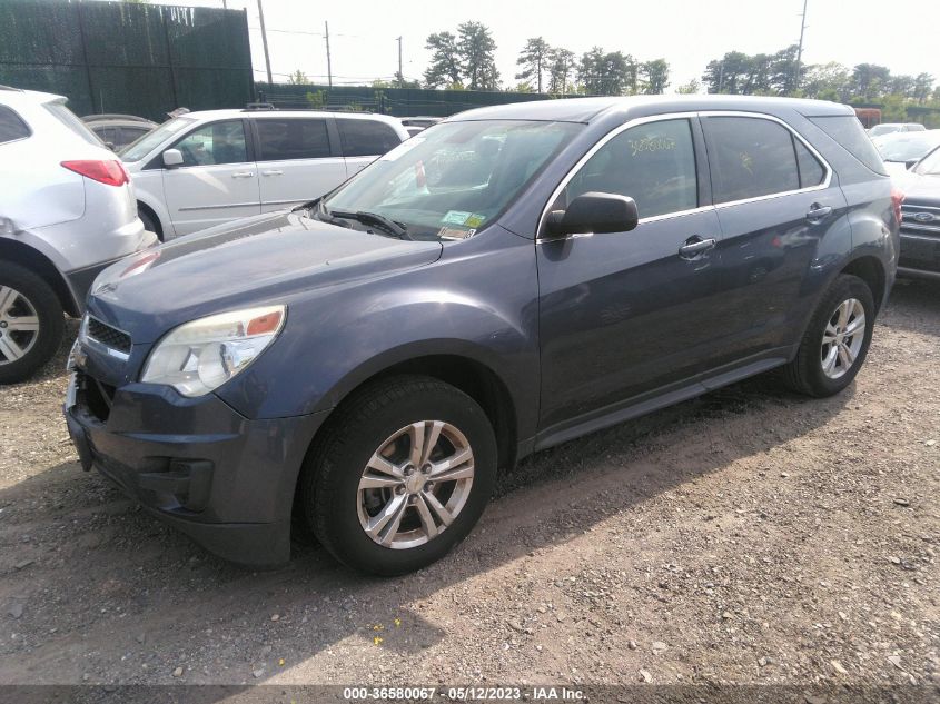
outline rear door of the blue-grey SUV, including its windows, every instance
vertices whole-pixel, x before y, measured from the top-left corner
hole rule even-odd
[[[831,169],[782,121],[753,113],[701,116],[721,224],[722,287],[734,361],[791,345],[810,305],[803,282],[820,240],[842,229],[845,198]]]

